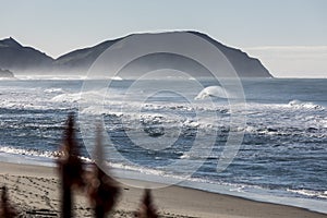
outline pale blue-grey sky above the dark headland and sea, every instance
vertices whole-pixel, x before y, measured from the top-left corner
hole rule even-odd
[[[326,0],[0,0],[0,39],[52,58],[131,33],[192,29],[277,77],[327,77]]]

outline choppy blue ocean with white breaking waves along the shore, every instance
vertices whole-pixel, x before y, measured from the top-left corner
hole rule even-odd
[[[120,178],[327,213],[326,78],[245,78],[244,104],[214,81],[201,82],[211,87],[202,94],[194,84],[0,81],[0,160],[53,166],[75,112],[83,158],[102,123],[105,157]]]

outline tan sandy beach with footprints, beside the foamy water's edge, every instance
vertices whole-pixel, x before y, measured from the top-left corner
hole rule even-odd
[[[55,168],[0,162],[0,183],[8,186],[10,199],[19,210],[20,217],[59,217],[59,180]],[[122,195],[112,217],[133,217],[143,190],[123,184],[121,187]],[[154,190],[153,196],[161,217],[327,217],[302,208],[179,186]],[[75,193],[74,215],[93,216],[93,209],[83,193]]]

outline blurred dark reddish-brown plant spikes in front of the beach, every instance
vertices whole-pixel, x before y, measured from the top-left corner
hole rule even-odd
[[[121,194],[121,189],[119,183],[110,177],[110,169],[108,169],[108,165],[104,159],[102,129],[99,126],[97,129],[94,160],[90,168],[87,168],[86,164],[81,160],[81,150],[75,133],[74,114],[70,113],[65,123],[59,157],[56,160],[61,185],[60,217],[74,217],[73,194],[74,191],[81,191],[88,197],[94,208],[95,217],[105,218],[113,210]],[[23,215],[17,211],[20,211],[20,208],[14,208],[10,204],[8,189],[3,186],[1,192],[0,218],[22,217]],[[140,208],[134,213],[134,216],[138,218],[159,217],[149,190],[145,190]]]

